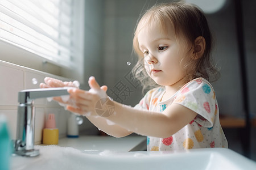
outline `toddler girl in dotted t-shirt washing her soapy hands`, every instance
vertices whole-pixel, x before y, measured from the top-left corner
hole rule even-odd
[[[133,46],[139,56],[134,74],[144,88],[158,87],[132,108],[110,100],[107,87],[90,77],[89,91],[68,90],[75,105],[67,102],[67,109],[114,137],[146,135],[148,151],[228,147],[208,82],[217,79],[218,71],[210,58],[212,36],[203,12],[187,3],[154,6],[139,20]],[[67,86],[52,78],[45,82],[40,86]]]

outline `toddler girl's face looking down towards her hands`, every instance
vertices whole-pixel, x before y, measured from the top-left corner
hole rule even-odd
[[[138,34],[139,48],[144,54],[147,74],[161,86],[173,86],[184,76],[184,61],[191,55],[183,39],[176,41],[174,29],[168,28],[168,34],[159,26],[142,29]]]

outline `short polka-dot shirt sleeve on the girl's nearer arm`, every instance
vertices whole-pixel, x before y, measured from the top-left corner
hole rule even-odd
[[[195,79],[181,88],[174,101],[197,113],[198,124],[211,128],[217,112],[217,101],[212,86],[203,79]]]

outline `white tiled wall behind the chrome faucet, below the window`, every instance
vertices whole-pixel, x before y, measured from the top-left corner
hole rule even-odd
[[[59,76],[28,69],[11,63],[0,61],[0,114],[5,114],[9,125],[11,139],[16,138],[16,121],[18,107],[18,92],[24,89],[39,88],[44,77],[68,80]],[[37,84],[32,79],[38,80]],[[65,111],[55,101],[48,102],[47,99],[35,100],[35,143],[42,141],[42,129],[49,113],[55,114],[56,126],[59,129],[59,136],[65,137],[67,131],[67,118],[69,112]]]

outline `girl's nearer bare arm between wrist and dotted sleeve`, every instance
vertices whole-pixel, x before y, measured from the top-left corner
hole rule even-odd
[[[189,124],[196,113],[179,104],[172,104],[162,113],[141,111],[116,103],[116,115],[109,120],[135,133],[152,137],[168,138]]]

